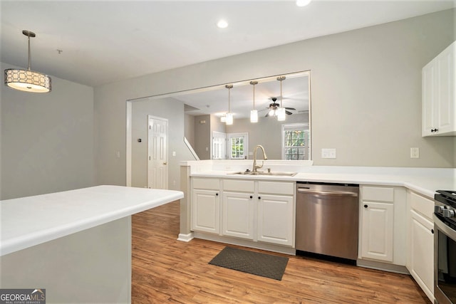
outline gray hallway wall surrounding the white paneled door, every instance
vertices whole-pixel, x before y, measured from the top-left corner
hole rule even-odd
[[[132,186],[147,187],[147,116],[168,120],[168,189],[180,189],[179,162],[192,159],[184,144],[184,105],[174,98],[133,101]],[[142,142],[138,142],[138,138]],[[175,156],[172,156],[175,152]]]

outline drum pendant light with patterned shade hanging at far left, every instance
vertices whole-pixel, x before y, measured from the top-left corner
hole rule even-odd
[[[30,68],[30,37],[35,37],[31,31],[22,31],[28,37],[28,68],[18,70],[9,68],[5,70],[5,85],[16,90],[33,93],[47,93],[51,91],[51,77],[31,70]]]

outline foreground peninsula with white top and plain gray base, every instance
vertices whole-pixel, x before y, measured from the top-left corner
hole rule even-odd
[[[45,288],[47,303],[130,303],[130,216],[182,198],[97,186],[0,201],[0,288]]]

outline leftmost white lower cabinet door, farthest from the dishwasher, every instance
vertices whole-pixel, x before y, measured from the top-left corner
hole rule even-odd
[[[193,189],[192,230],[219,234],[220,199],[219,191]]]

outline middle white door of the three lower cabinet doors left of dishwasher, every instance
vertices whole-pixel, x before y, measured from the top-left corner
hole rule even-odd
[[[222,199],[222,234],[242,239],[254,238],[253,193],[224,192]]]

